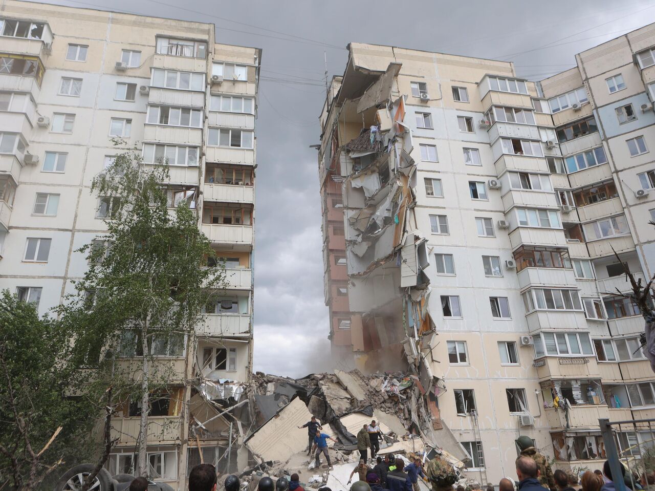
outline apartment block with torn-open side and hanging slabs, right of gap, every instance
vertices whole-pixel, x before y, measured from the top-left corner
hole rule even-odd
[[[318,155],[333,355],[413,372],[481,482],[514,475],[518,435],[555,467],[599,467],[599,418],[655,408],[644,321],[618,295],[625,267],[655,272],[655,24],[540,82],[348,51]]]

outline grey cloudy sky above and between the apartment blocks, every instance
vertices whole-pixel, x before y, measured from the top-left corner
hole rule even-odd
[[[574,66],[574,54],[655,20],[655,3],[635,0],[49,3],[213,22],[220,43],[263,49],[255,370],[288,376],[331,368],[316,150],[309,148],[319,142],[324,53],[329,77],[343,73],[354,41],[514,61],[518,75],[540,80]]]

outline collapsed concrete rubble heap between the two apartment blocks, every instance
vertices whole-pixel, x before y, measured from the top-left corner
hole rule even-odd
[[[359,370],[335,370],[300,379],[257,372],[238,402],[233,399],[227,409],[215,410],[230,414],[240,408],[240,417],[247,414],[252,422],[246,435],[242,435],[244,426],[238,425],[243,437],[235,441],[248,450],[253,464],[239,469],[244,490],[256,489],[266,475],[289,479],[298,473],[306,489],[327,485],[337,491],[349,488],[348,477],[359,460],[356,433],[371,420],[378,422],[384,435],[379,455],[392,453],[409,462],[442,454],[455,468],[464,468],[468,456],[449,429],[435,420],[428,399],[419,377],[402,372],[364,376]],[[337,440],[330,448],[330,469],[315,468],[314,456],[307,454],[307,428],[299,427],[312,416],[322,424],[323,433]]]

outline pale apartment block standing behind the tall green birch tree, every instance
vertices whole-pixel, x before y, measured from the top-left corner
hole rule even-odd
[[[12,0],[1,10],[2,287],[39,315],[74,291],[87,266],[77,250],[102,235],[109,208],[90,184],[117,153],[111,136],[142,150],[146,167],[168,158],[170,206],[187,200],[225,260],[227,291],[206,307],[196,338],[153,345],[174,376],[151,396],[149,477],[183,489],[198,445],[214,462],[245,431],[215,416],[225,405],[216,401],[240,402],[252,374],[261,50],[215,43],[214,24],[202,22]],[[136,363],[130,356],[134,345],[121,346],[121,363]],[[112,474],[134,469],[138,414],[133,401],[113,418]],[[247,458],[234,452],[219,467]]]

